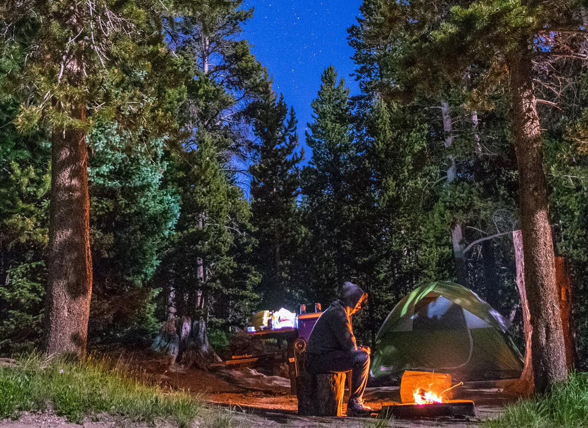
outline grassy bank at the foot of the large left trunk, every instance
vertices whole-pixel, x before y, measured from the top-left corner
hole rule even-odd
[[[149,385],[108,358],[68,362],[32,354],[17,360],[0,368],[0,420],[51,406],[75,423],[108,413],[143,422],[167,419],[184,428],[202,410],[188,393]]]

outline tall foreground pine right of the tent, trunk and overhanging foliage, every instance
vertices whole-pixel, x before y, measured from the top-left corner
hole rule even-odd
[[[370,35],[403,33],[403,46],[392,59],[397,88],[436,92],[444,85],[463,86],[479,68],[479,85],[469,87],[473,102],[492,106],[493,88],[506,80],[510,91],[512,142],[516,148],[520,224],[525,247],[527,293],[533,325],[536,391],[549,390],[566,376],[562,334],[556,312],[553,246],[547,213],[539,116],[533,86],[533,62],[551,67],[557,60],[583,55],[580,2],[480,1],[369,2],[382,12]],[[393,19],[389,19],[392,18]],[[408,37],[406,37],[408,35]],[[367,36],[369,39],[369,35]],[[381,39],[381,38],[380,38]],[[398,47],[398,45],[395,45]]]

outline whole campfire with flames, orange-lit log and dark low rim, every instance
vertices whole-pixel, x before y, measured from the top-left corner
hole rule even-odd
[[[402,404],[383,406],[380,414],[395,417],[476,416],[471,400],[452,400],[451,376],[406,370],[400,382]]]

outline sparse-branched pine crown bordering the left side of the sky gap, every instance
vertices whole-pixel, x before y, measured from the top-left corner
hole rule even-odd
[[[253,9],[240,9],[242,0],[192,2],[181,16],[168,19],[171,48],[191,63],[194,79],[181,120],[188,132],[206,129],[223,136],[218,148],[227,161],[246,157],[251,149],[246,107],[263,92],[267,72],[240,38]],[[219,141],[220,142],[220,141]]]

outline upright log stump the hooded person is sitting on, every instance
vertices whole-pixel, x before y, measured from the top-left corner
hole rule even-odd
[[[343,416],[345,373],[320,373],[306,370],[306,355],[297,358],[298,414],[300,416]]]

